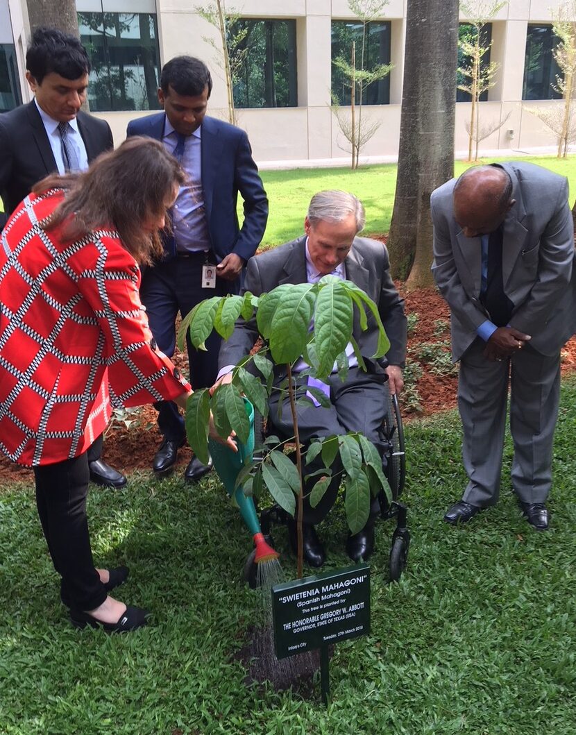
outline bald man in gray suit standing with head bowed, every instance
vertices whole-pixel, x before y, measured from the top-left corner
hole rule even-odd
[[[560,350],[575,331],[568,184],[530,163],[478,166],[436,189],[431,210],[469,478],[444,520],[466,523],[497,502],[510,382],[512,486],[528,523],[544,530]]]

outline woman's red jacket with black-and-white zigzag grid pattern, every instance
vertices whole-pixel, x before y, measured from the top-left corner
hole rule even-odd
[[[190,390],[156,348],[140,302],[140,268],[113,229],[75,243],[38,221],[60,190],[31,195],[0,244],[0,451],[21,465],[78,456],[115,405]]]

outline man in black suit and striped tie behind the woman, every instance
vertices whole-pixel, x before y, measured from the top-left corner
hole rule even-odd
[[[26,52],[26,79],[35,98],[0,115],[0,196],[7,218],[48,173],[88,168],[113,147],[108,123],[80,111],[90,61],[76,37],[37,29]],[[126,478],[101,459],[99,437],[88,451],[90,479],[123,487]]]

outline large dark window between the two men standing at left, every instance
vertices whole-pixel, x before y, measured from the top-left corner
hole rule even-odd
[[[159,110],[158,26],[148,12],[79,12],[90,110]]]

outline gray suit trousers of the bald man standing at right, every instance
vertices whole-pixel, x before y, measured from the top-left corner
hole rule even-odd
[[[509,359],[491,362],[483,356],[485,346],[478,337],[460,362],[458,409],[469,478],[462,499],[483,508],[498,500],[510,386],[512,487],[520,501],[544,503],[552,484],[560,353],[542,355],[528,344]]]

